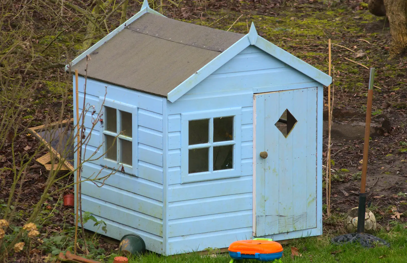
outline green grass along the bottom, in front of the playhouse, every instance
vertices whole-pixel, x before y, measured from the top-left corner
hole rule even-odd
[[[282,263],[313,262],[313,263],[370,263],[370,262],[406,262],[407,257],[407,225],[396,224],[389,232],[381,230],[375,234],[391,244],[391,248],[363,248],[357,245],[336,246],[330,243],[332,236],[322,235],[290,241],[284,245]],[[298,248],[301,256],[291,258],[291,247]],[[117,254],[108,257],[112,263]],[[154,253],[129,257],[129,263],[229,263],[228,254],[218,254],[217,257],[200,256],[198,253],[180,254],[164,257]],[[242,263],[257,261],[242,261]]]

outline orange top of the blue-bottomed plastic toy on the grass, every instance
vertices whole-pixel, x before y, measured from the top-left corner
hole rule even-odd
[[[229,246],[230,252],[241,252],[241,254],[271,254],[282,252],[282,246],[276,241],[268,239],[253,239],[234,241]]]

